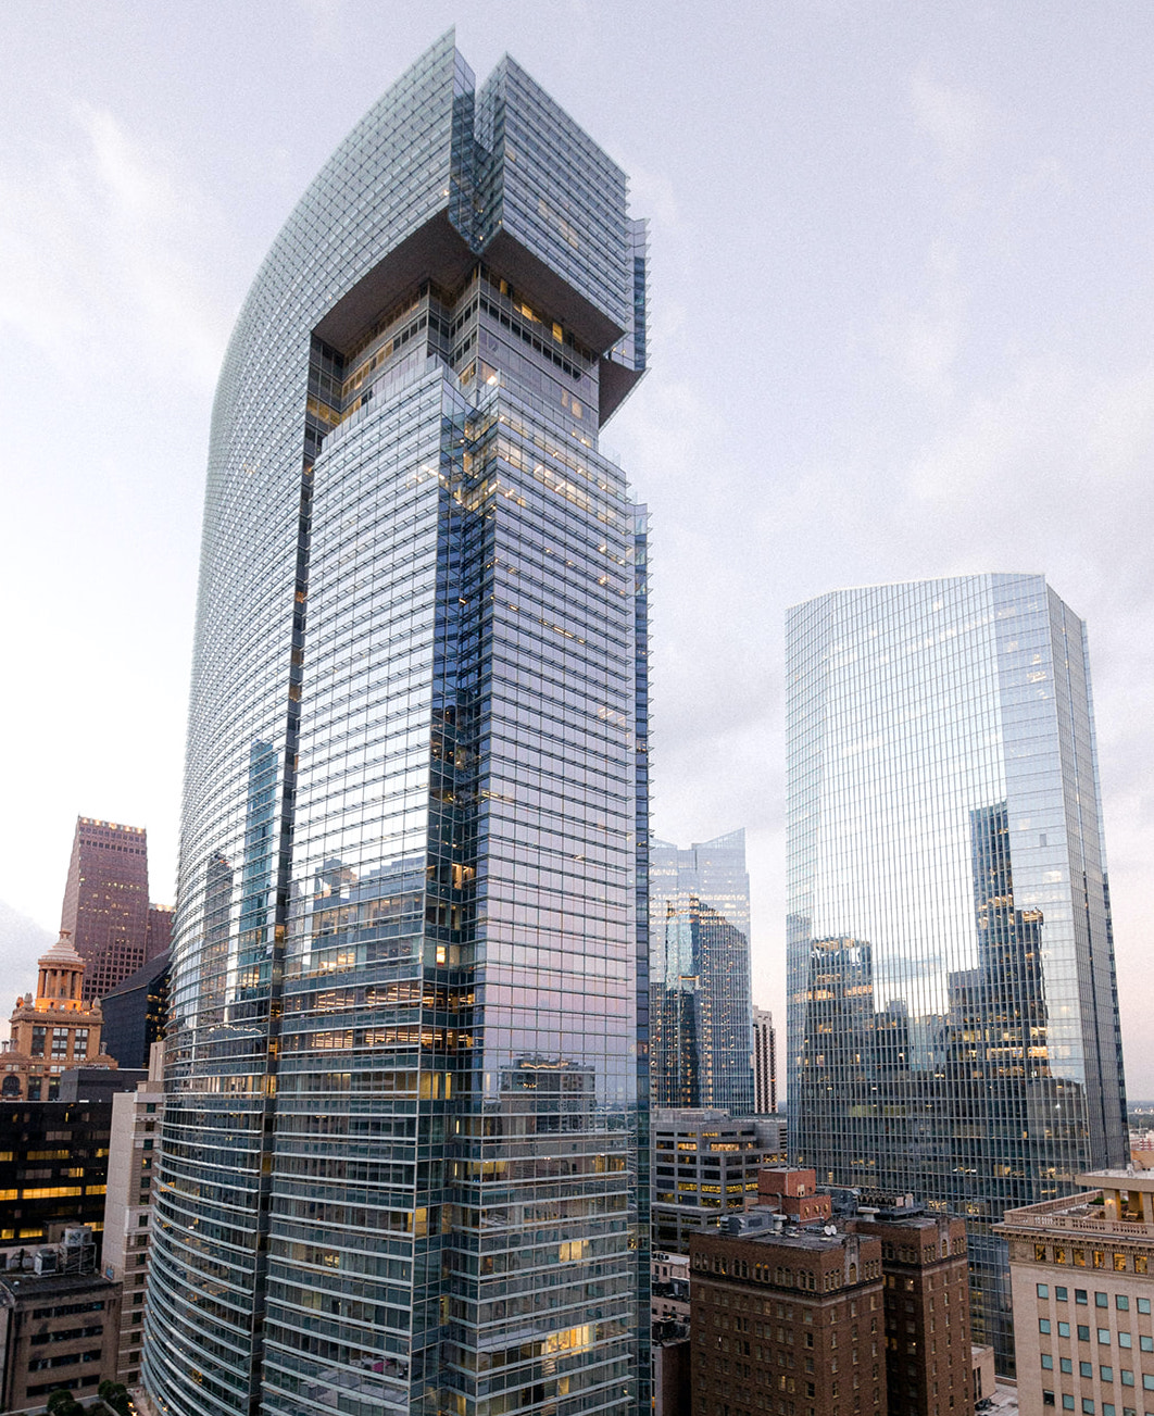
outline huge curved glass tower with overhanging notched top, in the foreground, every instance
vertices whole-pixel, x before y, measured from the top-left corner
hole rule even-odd
[[[620,169],[511,59],[476,88],[450,34],[244,306],[171,953],[163,1410],[649,1405],[644,517],[598,450],[644,278]]]

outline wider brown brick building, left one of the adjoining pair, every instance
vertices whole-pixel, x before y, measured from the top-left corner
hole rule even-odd
[[[694,1235],[694,1416],[884,1416],[882,1242]]]

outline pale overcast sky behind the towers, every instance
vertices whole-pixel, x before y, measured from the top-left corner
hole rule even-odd
[[[755,998],[784,1021],[786,606],[1041,571],[1089,623],[1127,1080],[1154,1096],[1144,0],[7,0],[0,1011],[78,813],[146,826],[171,899],[224,344],[316,170],[455,21],[651,218],[651,372],[605,445],[654,520],[656,828],[748,828]]]

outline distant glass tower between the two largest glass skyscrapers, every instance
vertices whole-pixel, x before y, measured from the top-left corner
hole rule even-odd
[[[653,1104],[753,1110],[745,831],[650,845]]]

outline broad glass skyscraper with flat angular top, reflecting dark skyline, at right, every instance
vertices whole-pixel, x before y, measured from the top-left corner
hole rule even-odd
[[[1086,630],[1038,575],[789,615],[790,1150],[964,1215],[1012,1369],[1002,1211],[1126,1161]]]

